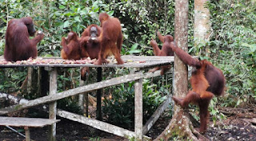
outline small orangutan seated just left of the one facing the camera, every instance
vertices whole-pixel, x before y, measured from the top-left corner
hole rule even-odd
[[[79,60],[86,57],[86,50],[80,47],[80,38],[77,33],[71,31],[67,35],[67,39],[62,37],[61,57],[68,60]]]

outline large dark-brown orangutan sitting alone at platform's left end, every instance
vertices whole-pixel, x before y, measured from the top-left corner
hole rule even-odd
[[[38,57],[37,45],[44,37],[43,33],[34,36],[34,23],[32,18],[12,19],[6,29],[6,48],[4,57],[6,61],[27,60]]]

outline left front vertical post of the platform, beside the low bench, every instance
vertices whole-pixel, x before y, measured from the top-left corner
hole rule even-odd
[[[57,93],[57,68],[50,70],[50,95]],[[57,102],[54,101],[49,105],[49,119],[56,119]],[[56,141],[56,123],[50,125],[49,140]]]

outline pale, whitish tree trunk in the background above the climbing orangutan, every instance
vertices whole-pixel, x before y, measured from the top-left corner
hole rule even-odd
[[[194,45],[205,44],[210,38],[210,11],[205,8],[209,0],[194,0]],[[206,46],[206,56],[209,57],[209,46]]]

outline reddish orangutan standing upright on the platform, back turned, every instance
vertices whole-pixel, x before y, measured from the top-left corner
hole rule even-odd
[[[122,48],[122,27],[118,18],[110,18],[106,13],[99,14],[99,21],[101,22],[102,34],[100,35],[101,50],[98,55],[98,61],[94,65],[107,64],[106,57],[114,54],[118,65],[124,64],[121,59]]]

